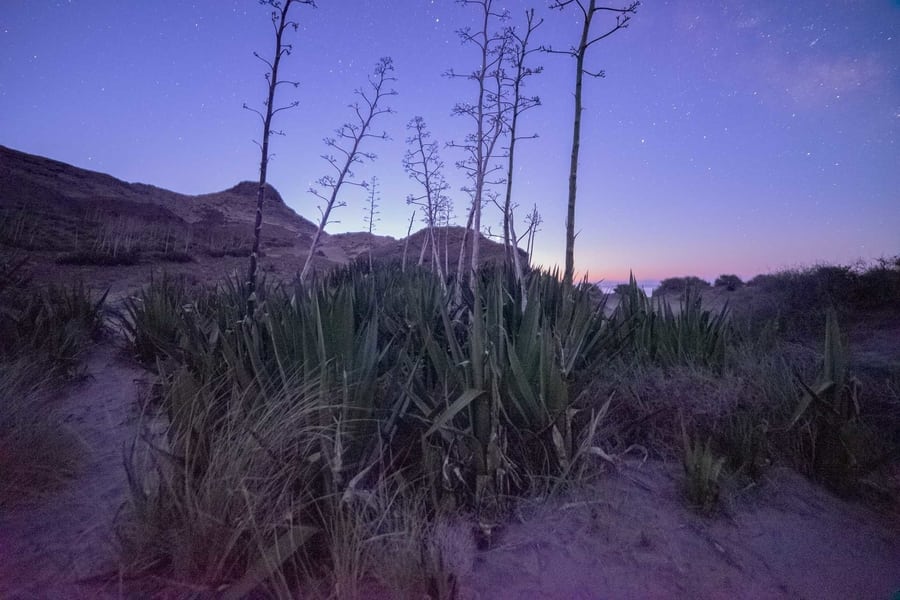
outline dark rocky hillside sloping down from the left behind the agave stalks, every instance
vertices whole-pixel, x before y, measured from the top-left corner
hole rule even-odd
[[[0,146],[0,245],[42,265],[32,269],[38,279],[80,276],[112,287],[114,296],[145,283],[147,267],[215,281],[246,268],[256,192],[256,183],[244,181],[219,192],[179,194]],[[262,269],[292,276],[302,267],[315,231],[314,223],[268,186]],[[451,270],[462,232],[450,227],[438,234],[441,247],[450,252]],[[416,263],[424,239],[425,230],[411,235],[408,243],[365,232],[326,233],[314,265],[327,269],[363,255],[400,260],[404,248],[408,261]],[[503,247],[487,238],[482,248],[485,262],[503,256]]]

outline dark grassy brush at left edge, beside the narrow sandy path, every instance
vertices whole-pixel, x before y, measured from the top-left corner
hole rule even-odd
[[[50,493],[77,470],[81,448],[54,401],[100,335],[102,303],[80,284],[36,290],[26,261],[0,261],[0,504]]]

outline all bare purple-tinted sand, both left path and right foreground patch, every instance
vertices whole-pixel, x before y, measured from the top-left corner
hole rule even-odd
[[[123,452],[150,375],[111,342],[85,365],[56,407],[85,460],[52,497],[0,515],[0,598],[118,595],[84,580],[115,571]],[[461,597],[875,600],[900,589],[900,512],[773,468],[704,518],[680,498],[678,470],[632,465],[562,498],[523,501],[490,549],[454,559],[467,565]]]

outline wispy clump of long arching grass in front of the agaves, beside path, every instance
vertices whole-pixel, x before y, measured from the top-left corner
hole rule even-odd
[[[126,463],[131,496],[119,536],[129,568],[231,582],[227,597],[296,572],[298,549],[319,532],[315,502],[332,472],[322,442],[337,437],[319,425],[328,404],[316,382],[296,383],[262,395],[203,386],[184,371],[172,380],[163,398],[170,423],[156,442],[165,450]]]

